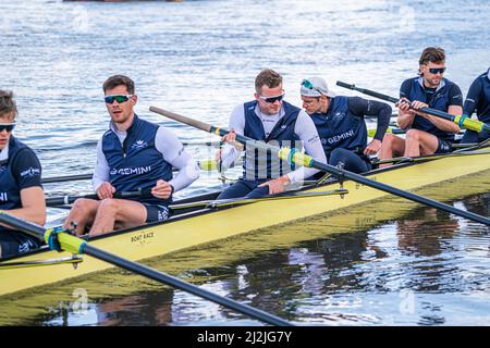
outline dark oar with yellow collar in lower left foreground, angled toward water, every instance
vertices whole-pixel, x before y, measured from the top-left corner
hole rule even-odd
[[[32,236],[35,236],[41,240],[45,240],[51,249],[58,249],[71,252],[71,253],[85,253],[96,259],[106,261],[108,263],[114,264],[127,271],[134,272],[136,274],[149,277],[154,281],[170,285],[183,291],[193,294],[195,296],[205,298],[223,307],[233,309],[240,313],[249,315],[254,319],[260,320],[265,323],[279,326],[292,326],[290,322],[267,313],[265,311],[258,310],[247,304],[240,303],[232,299],[219,296],[206,289],[201,289],[195,285],[183,282],[174,276],[166,274],[163,272],[157,271],[155,269],[148,268],[137,262],[123,259],[113,253],[107,252],[99,248],[89,245],[86,240],[78,237],[72,236],[69,233],[59,229],[45,229],[41,226],[35,225],[33,223],[26,222],[19,217],[12,216],[4,211],[0,211],[0,222],[16,229],[23,231]]]

